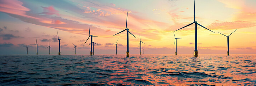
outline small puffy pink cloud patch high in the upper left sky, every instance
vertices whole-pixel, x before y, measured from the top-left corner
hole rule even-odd
[[[46,15],[60,15],[58,10],[55,10],[53,6],[48,6],[48,7],[42,7],[43,8],[43,13],[40,14],[46,14]]]

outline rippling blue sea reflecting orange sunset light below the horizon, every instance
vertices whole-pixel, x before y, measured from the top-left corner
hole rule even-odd
[[[256,55],[124,56],[0,56],[0,85],[256,85]]]

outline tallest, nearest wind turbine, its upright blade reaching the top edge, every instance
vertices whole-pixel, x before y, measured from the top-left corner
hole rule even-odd
[[[193,23],[195,23],[195,51],[194,51],[194,57],[198,57],[198,50],[197,50],[197,25],[199,25],[199,26],[201,26],[201,27],[203,27],[202,25],[200,25],[200,24],[198,24],[196,21],[195,21],[195,0],[194,0],[194,22]],[[186,25],[185,27],[188,27],[189,25],[191,25],[191,24],[193,24],[193,23],[190,23],[190,24],[188,24],[188,25]],[[182,28],[185,28],[185,27],[182,27]],[[182,28],[180,28],[180,29],[182,29]],[[203,28],[205,28],[205,27],[203,27]],[[180,30],[180,29],[178,29],[178,30]],[[205,29],[207,29],[207,28],[205,28]],[[207,30],[209,30],[209,29],[207,29]],[[177,31],[177,30],[175,30],[175,31]],[[175,32],[174,31],[174,32]],[[211,30],[210,30],[211,31]],[[213,32],[213,31],[211,31],[211,32]],[[213,33],[215,33],[215,32],[213,32]]]

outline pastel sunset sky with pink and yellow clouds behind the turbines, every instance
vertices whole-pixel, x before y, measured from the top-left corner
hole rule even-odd
[[[256,54],[255,0],[195,0],[199,54]],[[95,54],[174,54],[174,31],[193,22],[194,0],[0,0],[0,54],[90,54],[89,25]],[[218,32],[224,34],[221,35]],[[140,35],[140,36],[139,36]],[[195,24],[175,31],[177,54],[193,54]],[[73,44],[72,44],[73,43]],[[85,45],[84,45],[85,43]],[[83,46],[84,45],[84,46]]]

